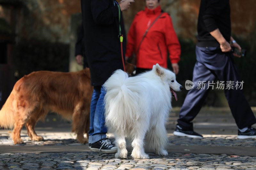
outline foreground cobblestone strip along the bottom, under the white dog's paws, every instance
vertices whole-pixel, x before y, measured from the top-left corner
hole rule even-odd
[[[151,159],[115,159],[114,154],[98,152],[61,153],[4,153],[0,154],[0,169],[173,169],[173,170],[230,170],[256,169],[256,157],[216,154],[169,153],[159,157],[149,153]]]

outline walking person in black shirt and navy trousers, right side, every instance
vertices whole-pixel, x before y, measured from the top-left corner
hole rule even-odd
[[[209,90],[212,89],[211,85],[219,79],[225,83],[225,96],[238,126],[237,138],[256,138],[256,129],[252,127],[256,123],[255,116],[241,87],[236,86],[242,81],[234,65],[231,46],[238,48],[239,51],[241,47],[231,37],[229,0],[201,0],[197,32],[196,64],[193,71],[195,86],[185,98],[173,134],[180,137],[203,138],[193,130],[191,121],[204,104]]]

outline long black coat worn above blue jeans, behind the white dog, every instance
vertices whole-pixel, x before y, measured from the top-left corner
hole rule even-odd
[[[114,4],[113,0],[81,0],[85,55],[93,86],[103,85],[115,70],[123,70],[118,7]],[[122,12],[120,26],[125,36]],[[124,37],[123,54],[125,41]]]

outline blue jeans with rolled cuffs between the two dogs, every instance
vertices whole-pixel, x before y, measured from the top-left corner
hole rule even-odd
[[[90,111],[90,130],[89,144],[95,143],[106,137],[107,128],[105,126],[105,105],[104,97],[106,90],[102,86],[100,89],[93,89],[91,111]]]

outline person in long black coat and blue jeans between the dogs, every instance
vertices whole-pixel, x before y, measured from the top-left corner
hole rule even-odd
[[[122,11],[127,10],[134,0],[81,0],[84,27],[84,49],[91,72],[94,90],[92,93],[89,148],[92,151],[115,153],[117,148],[106,138],[104,97],[102,86],[117,69],[124,70],[120,35],[125,31]],[[120,30],[121,29],[121,30]]]

